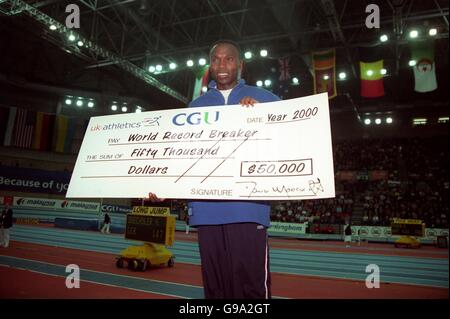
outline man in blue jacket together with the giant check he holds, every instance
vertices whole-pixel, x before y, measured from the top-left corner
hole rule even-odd
[[[270,298],[268,201],[335,196],[328,97],[246,85],[231,41],[210,60],[190,108],[91,118],[67,197],[189,199],[205,297]]]

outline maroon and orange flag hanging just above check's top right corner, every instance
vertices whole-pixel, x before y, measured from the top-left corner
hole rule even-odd
[[[327,92],[329,99],[336,97],[336,51],[313,52],[312,64],[314,94]]]

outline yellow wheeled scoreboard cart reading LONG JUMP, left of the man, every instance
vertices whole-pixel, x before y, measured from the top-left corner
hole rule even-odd
[[[116,266],[144,271],[151,266],[173,267],[175,256],[166,248],[175,238],[175,216],[168,207],[135,206],[127,214],[125,238],[143,241],[140,246],[130,246],[116,257]]]

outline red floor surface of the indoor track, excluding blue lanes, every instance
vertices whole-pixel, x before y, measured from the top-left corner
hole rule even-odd
[[[195,235],[177,234],[177,239],[186,240],[186,237],[195,240]],[[275,239],[271,240],[271,247],[279,247],[280,245],[283,248],[307,249],[303,245],[313,245],[297,242],[298,245],[296,241]],[[375,247],[372,245],[370,244],[370,247]],[[318,250],[317,248],[311,248],[311,250]],[[326,251],[337,251],[336,243],[334,244],[334,249],[332,244],[330,244],[329,248],[321,248]],[[386,245],[384,245],[384,248],[386,248]],[[433,247],[428,248],[423,253],[432,254],[433,252],[439,252],[439,250],[435,251]],[[347,253],[349,250],[352,250],[352,248],[342,249]],[[394,249],[394,252],[396,251]],[[381,252],[386,254],[385,249],[381,250]],[[418,256],[417,253],[419,251],[405,252]],[[369,253],[380,253],[380,251],[376,250]],[[111,254],[21,242],[12,242],[8,249],[1,248],[0,254],[64,266],[75,263],[81,269],[202,286],[200,267],[197,265],[176,263],[174,268],[155,268],[146,272],[131,272],[128,269],[116,268],[114,255]],[[169,298],[169,296],[83,281],[80,289],[67,289],[64,284],[65,278],[63,277],[5,267],[0,267],[0,278],[2,282],[0,298]],[[272,295],[297,299],[448,299],[448,289],[404,284],[381,284],[380,289],[367,289],[362,281],[272,273]]]

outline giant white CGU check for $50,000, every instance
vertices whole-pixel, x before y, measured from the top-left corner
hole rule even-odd
[[[92,117],[67,197],[335,196],[326,94]]]

